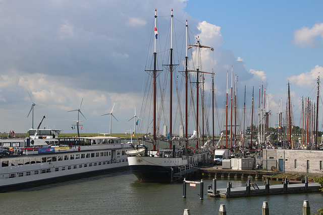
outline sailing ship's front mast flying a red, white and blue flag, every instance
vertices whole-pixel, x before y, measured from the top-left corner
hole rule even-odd
[[[153,151],[156,150],[156,77],[157,77],[157,70],[156,70],[156,40],[157,40],[157,9],[155,9],[155,47],[154,47],[154,52],[153,52],[153,139],[154,139],[154,144],[153,144]]]

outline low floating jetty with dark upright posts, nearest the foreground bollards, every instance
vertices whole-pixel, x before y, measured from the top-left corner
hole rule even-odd
[[[217,179],[213,179],[213,184],[208,185],[207,195],[212,197],[233,198],[273,194],[319,192],[320,188],[320,184],[318,183],[308,183],[307,177],[305,179],[305,183],[300,184],[289,184],[287,178],[285,178],[284,184],[270,185],[269,181],[270,180],[267,178],[265,185],[258,186],[252,181],[252,177],[249,176],[245,187],[232,187],[232,183],[228,182],[227,188],[217,189]]]

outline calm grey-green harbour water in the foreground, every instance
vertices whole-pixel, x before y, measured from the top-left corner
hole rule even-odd
[[[195,179],[196,181],[200,181]],[[0,214],[219,214],[225,204],[228,214],[261,214],[263,201],[268,201],[271,214],[302,214],[303,200],[308,200],[311,213],[323,207],[323,193],[271,195],[245,198],[207,197],[199,199],[199,185],[140,183],[129,171],[44,185],[15,192],[0,193]],[[233,187],[246,181],[230,180]],[[228,180],[218,180],[225,188]],[[261,184],[263,181],[258,181]],[[274,184],[274,181],[272,182]]]

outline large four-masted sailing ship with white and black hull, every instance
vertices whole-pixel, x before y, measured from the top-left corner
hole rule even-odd
[[[156,43],[158,38],[158,32],[157,32],[157,15],[155,10],[155,16],[154,16],[154,51],[153,51],[153,59],[152,59],[152,70],[146,70],[149,74],[149,77],[151,78],[151,82],[147,83],[147,85],[152,85],[152,125],[150,125],[150,121],[147,120],[146,122],[149,124],[148,127],[152,127],[152,134],[150,132],[147,132],[148,134],[145,134],[138,138],[138,145],[135,146],[135,149],[127,151],[128,157],[128,163],[131,172],[141,181],[141,182],[170,182],[175,181],[180,178],[182,178],[185,175],[188,175],[189,173],[192,173],[194,171],[197,171],[198,167],[201,165],[208,165],[209,162],[211,162],[211,151],[209,149],[210,140],[206,141],[204,144],[204,129],[202,128],[202,132],[200,132],[199,128],[199,122],[202,121],[202,125],[204,125],[204,121],[201,119],[203,118],[203,111],[204,107],[202,105],[202,108],[199,109],[199,106],[201,105],[201,101],[199,101],[200,97],[200,81],[199,77],[204,74],[203,71],[200,71],[199,69],[199,55],[200,55],[200,49],[206,48],[213,51],[212,47],[201,45],[199,39],[197,38],[197,42],[194,45],[188,45],[188,25],[186,21],[185,26],[185,32],[186,32],[186,56],[185,56],[185,71],[183,71],[184,78],[184,85],[185,85],[185,113],[182,114],[181,111],[177,111],[181,119],[180,122],[180,131],[179,135],[173,134],[173,71],[176,67],[175,64],[173,64],[173,10],[171,15],[171,39],[170,39],[170,63],[168,65],[164,65],[169,69],[169,78],[168,81],[165,81],[165,83],[169,83],[170,88],[170,94],[169,101],[167,104],[169,104],[169,114],[165,113],[165,107],[163,106],[166,100],[166,93],[165,93],[165,85],[161,84],[161,87],[159,89],[163,89],[163,92],[160,93],[160,98],[157,97],[157,82],[163,83],[163,81],[158,80],[157,78],[160,77],[161,70],[158,70],[158,60],[157,60],[157,51],[156,51]],[[188,69],[188,49],[190,48],[196,48],[197,53],[197,66],[196,70],[189,70]],[[190,89],[190,75],[195,75],[196,82],[196,106],[193,106],[193,110],[196,110],[195,112],[195,129],[193,132],[193,135],[189,137],[188,135],[188,127],[189,127],[189,104],[192,102],[189,102],[189,95],[193,95],[193,93],[189,92]],[[203,79],[202,79],[203,81]],[[176,86],[176,92],[178,92],[178,87]],[[144,98],[147,98],[149,93],[144,96]],[[180,96],[178,96],[179,98]],[[157,100],[160,101],[160,106],[157,106]],[[202,100],[203,101],[203,100]],[[144,105],[148,102],[143,101],[143,108]],[[179,104],[180,102],[178,102]],[[203,104],[203,103],[202,103]],[[143,109],[142,108],[142,109]],[[146,108],[141,111],[141,113],[144,113],[143,115],[148,115],[149,108]],[[158,112],[161,111],[162,113]],[[191,112],[194,116],[194,112]],[[168,115],[169,119],[166,120],[169,123],[169,131],[167,130],[167,126],[163,125],[163,134],[160,134],[160,116],[161,115]],[[143,118],[144,116],[140,116]],[[199,116],[202,116],[199,118]],[[184,120],[182,120],[185,118]],[[203,126],[202,126],[203,127]],[[185,130],[185,131],[184,131]],[[161,149],[158,147],[158,145],[162,145],[163,142],[166,142],[166,148]],[[196,142],[196,145],[195,145]],[[146,146],[147,143],[150,143],[150,146],[152,146],[152,149],[148,149],[149,147]],[[190,144],[192,144],[190,146]],[[148,145],[148,144],[147,144]],[[202,145],[202,146],[201,146]]]

